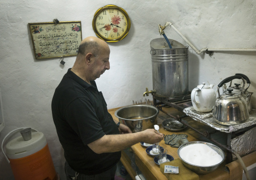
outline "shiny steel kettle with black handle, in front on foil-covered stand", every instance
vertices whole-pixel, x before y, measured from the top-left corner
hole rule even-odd
[[[230,76],[218,85],[218,97],[213,109],[215,121],[222,125],[237,125],[249,119],[247,102],[242,95],[234,93],[232,88],[227,88],[225,93],[220,95],[219,88],[233,79],[241,79],[242,76]]]

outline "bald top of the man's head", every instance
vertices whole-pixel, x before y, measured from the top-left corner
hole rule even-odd
[[[78,49],[78,56],[85,56],[87,53],[92,53],[94,56],[99,56],[102,51],[109,51],[107,43],[99,38],[90,36],[85,38]]]

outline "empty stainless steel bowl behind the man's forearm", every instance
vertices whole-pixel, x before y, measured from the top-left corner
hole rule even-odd
[[[154,128],[159,110],[155,106],[137,104],[125,106],[115,111],[119,121],[126,124],[133,132]]]

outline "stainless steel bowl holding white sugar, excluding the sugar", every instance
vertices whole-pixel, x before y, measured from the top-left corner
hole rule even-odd
[[[212,149],[214,149],[218,154],[220,154],[220,156],[222,157],[222,161],[218,164],[211,165],[211,166],[199,166],[199,165],[194,165],[194,164],[188,163],[184,159],[182,159],[182,157],[180,157],[180,150],[183,147],[191,145],[191,144],[198,144],[198,143],[206,144],[209,147],[211,147]],[[220,149],[218,146],[216,146],[214,144],[211,144],[209,142],[202,142],[202,141],[191,141],[191,142],[187,142],[185,144],[182,144],[178,148],[178,156],[181,159],[184,166],[186,166],[187,168],[189,168],[190,170],[192,170],[192,171],[194,171],[198,174],[208,174],[208,173],[216,170],[221,165],[221,163],[225,160],[225,153],[222,149]]]

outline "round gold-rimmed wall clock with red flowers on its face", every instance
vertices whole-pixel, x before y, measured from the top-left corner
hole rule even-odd
[[[106,42],[118,42],[129,33],[131,21],[124,9],[107,5],[96,11],[92,27],[100,39]]]

